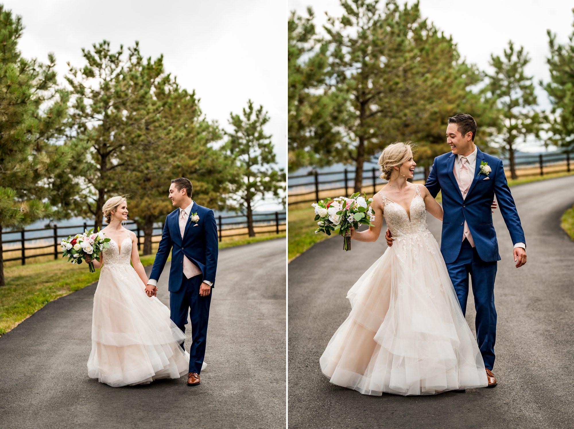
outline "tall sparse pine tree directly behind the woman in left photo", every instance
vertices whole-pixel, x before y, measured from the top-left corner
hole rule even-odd
[[[118,180],[118,169],[129,168],[130,157],[138,153],[138,142],[131,138],[146,118],[153,118],[161,103],[153,97],[153,86],[169,80],[163,59],[144,61],[139,44],[123,45],[117,52],[104,40],[82,49],[87,64],[68,63],[65,76],[72,88],[72,113],[67,145],[84,148],[83,192],[76,199],[80,214],[95,217],[102,226],[102,206],[114,194],[123,194],[125,184]]]

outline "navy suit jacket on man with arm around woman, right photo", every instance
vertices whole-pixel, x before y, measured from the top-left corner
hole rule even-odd
[[[440,250],[444,261],[450,264],[459,255],[465,220],[480,259],[486,262],[499,261],[501,257],[498,253],[497,233],[492,225],[490,208],[495,194],[513,244],[526,243],[502,161],[477,148],[474,178],[467,197],[463,200],[453,173],[455,160],[456,155],[452,152],[437,156],[425,184],[433,197],[436,197],[439,191],[443,191],[444,217]],[[490,174],[480,173],[481,161],[488,163],[492,169]],[[483,180],[485,177],[490,179]]]

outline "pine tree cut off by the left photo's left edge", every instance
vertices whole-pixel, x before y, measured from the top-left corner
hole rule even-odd
[[[0,5],[0,286],[5,285],[2,230],[50,216],[65,217],[73,193],[73,150],[55,144],[68,94],[56,88],[56,59],[26,60],[18,51],[24,26]]]

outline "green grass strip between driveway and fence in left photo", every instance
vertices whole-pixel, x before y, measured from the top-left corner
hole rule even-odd
[[[285,237],[285,232],[229,239],[221,242],[219,249],[278,237]],[[144,266],[152,265],[155,257],[154,253],[143,256],[140,260]],[[60,259],[9,266],[5,268],[4,275],[6,285],[0,288],[0,336],[49,302],[94,283],[100,273],[99,270],[90,273],[86,264],[75,265]]]

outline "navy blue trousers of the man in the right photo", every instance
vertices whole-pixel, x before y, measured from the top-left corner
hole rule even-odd
[[[494,279],[497,276],[497,262],[484,262],[465,238],[459,256],[447,264],[448,274],[455,287],[460,308],[466,314],[468,299],[468,275],[472,279],[472,294],[476,308],[476,341],[484,366],[494,367],[494,342],[497,337],[497,311],[494,308]]]

